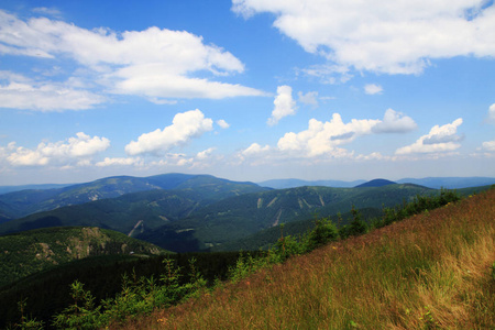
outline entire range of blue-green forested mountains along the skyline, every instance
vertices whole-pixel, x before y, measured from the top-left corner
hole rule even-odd
[[[429,182],[433,183],[431,178]],[[471,182],[485,184],[490,179],[471,178]],[[224,246],[240,246],[237,242],[241,241],[244,242],[241,245],[257,249],[261,245],[254,246],[253,242],[266,240],[255,235],[280,223],[304,222],[315,217],[336,218],[337,213],[348,213],[353,206],[366,209],[365,218],[378,217],[384,207],[438,193],[421,185],[386,179],[353,184],[356,183],[349,188],[273,189],[209,175],[109,177],[0,195],[3,222],[0,234],[79,226],[119,231],[174,252],[231,250]],[[343,219],[341,226],[346,223]],[[266,237],[275,238],[273,233]],[[270,240],[265,243],[270,244]]]

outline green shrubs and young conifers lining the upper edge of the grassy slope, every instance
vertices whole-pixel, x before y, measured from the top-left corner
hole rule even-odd
[[[387,217],[383,218],[383,221],[375,221],[375,224],[385,226],[391,220],[391,215],[396,215],[398,216],[397,219],[400,219],[403,216],[421,211],[424,207],[438,207],[458,199],[459,197],[455,194],[448,191],[442,191],[438,197],[418,197],[411,204],[388,211]],[[265,256],[253,257],[249,255],[248,258],[241,257],[231,271],[231,280],[237,283],[256,270],[266,270],[267,266],[277,264],[290,255],[306,253],[328,241],[334,241],[339,237],[346,238],[364,233],[366,226],[360,219],[360,212],[352,208],[351,213],[353,217],[351,223],[340,230],[337,230],[330,219],[319,219],[315,223],[315,229],[299,240],[292,237],[282,237]],[[191,261],[193,266],[189,276],[191,282],[185,284],[178,282],[179,270],[173,266],[173,262],[170,260],[165,260],[165,274],[161,275],[158,279],[153,277],[129,279],[127,277],[123,280],[122,292],[114,298],[101,300],[101,305],[98,306],[95,305],[92,294],[85,289],[81,283],[73,283],[74,304],[55,317],[54,324],[70,329],[103,327],[108,322],[121,322],[129,317],[148,314],[160,306],[169,306],[188,297],[198,297],[204,292],[206,280],[197,272],[194,261]],[[22,320],[21,326],[25,323],[25,319]],[[196,326],[191,327],[197,328]]]

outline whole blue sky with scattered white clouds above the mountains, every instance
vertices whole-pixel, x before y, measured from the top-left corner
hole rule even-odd
[[[0,185],[495,177],[484,0],[0,2]]]

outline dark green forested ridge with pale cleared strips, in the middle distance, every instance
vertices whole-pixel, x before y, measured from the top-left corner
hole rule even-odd
[[[395,206],[437,190],[415,185],[370,188],[299,187],[227,198],[136,238],[187,252],[238,241],[261,230],[298,220],[346,213],[356,208]]]

